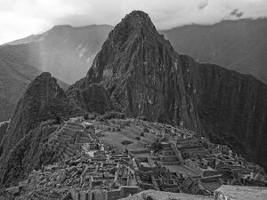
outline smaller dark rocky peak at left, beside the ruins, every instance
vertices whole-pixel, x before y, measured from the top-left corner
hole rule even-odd
[[[9,129],[0,144],[0,148],[2,149],[0,155],[0,173],[3,174],[0,178],[1,183],[5,184],[8,180],[7,177],[11,175],[11,165],[14,164],[14,167],[16,167],[16,162],[18,161],[14,157],[17,156],[14,156],[12,152],[21,140],[25,140],[28,137],[30,130],[35,129],[36,126],[47,119],[59,120],[82,114],[83,112],[67,98],[55,78],[49,73],[43,73],[37,76],[28,85],[27,91],[20,99],[12,116]],[[25,146],[24,142],[22,142],[22,146],[28,147]],[[27,156],[27,153],[21,153],[20,159],[23,156]]]

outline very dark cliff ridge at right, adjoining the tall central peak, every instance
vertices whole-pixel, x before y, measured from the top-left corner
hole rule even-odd
[[[253,76],[180,56],[188,95],[196,98],[202,131],[267,167],[267,85]],[[193,94],[196,95],[193,95]]]

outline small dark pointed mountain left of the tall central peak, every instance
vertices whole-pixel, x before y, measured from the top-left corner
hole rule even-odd
[[[36,154],[42,135],[51,133],[51,125],[45,126],[42,122],[48,119],[58,122],[83,114],[51,74],[45,72],[37,76],[21,97],[0,143],[0,185],[10,184],[25,175],[25,166],[29,164],[28,153]],[[40,129],[42,126],[47,130]],[[33,165],[29,164],[28,167],[32,168]]]

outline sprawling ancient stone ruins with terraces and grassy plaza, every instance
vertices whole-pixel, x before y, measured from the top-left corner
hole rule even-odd
[[[57,162],[5,189],[3,199],[115,200],[148,189],[213,199],[225,185],[266,196],[262,167],[180,126],[81,116],[62,123],[47,148]]]

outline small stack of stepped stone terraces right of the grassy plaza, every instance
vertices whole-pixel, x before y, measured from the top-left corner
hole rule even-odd
[[[161,142],[163,149],[160,152],[159,158],[161,164],[164,165],[177,165],[180,164],[174,149],[169,142]]]

